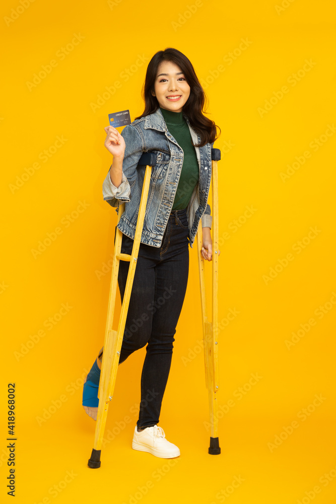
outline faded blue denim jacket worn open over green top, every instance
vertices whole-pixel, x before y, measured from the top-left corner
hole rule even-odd
[[[188,124],[193,143],[199,143],[200,137],[191,128],[188,117],[184,113],[183,117]],[[117,227],[123,234],[134,239],[146,169],[146,166],[138,166],[138,162],[143,152],[154,152],[157,155],[157,163],[152,167],[141,242],[160,247],[180,178],[183,150],[169,133],[160,108],[153,114],[127,124],[122,130],[121,136],[125,141],[121,184],[116,187],[111,182],[109,170],[103,182],[104,201],[107,201],[112,207],[117,207],[117,213],[119,205],[125,202],[125,209]],[[207,143],[203,147],[195,147],[199,180],[187,206],[191,248],[199,219],[201,219],[202,227],[211,228],[212,225],[208,196],[211,183],[213,143]]]

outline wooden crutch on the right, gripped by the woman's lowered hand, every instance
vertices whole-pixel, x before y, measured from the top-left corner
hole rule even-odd
[[[211,187],[212,187],[212,240],[213,240],[213,256],[212,256],[212,321],[208,320],[206,306],[206,286],[204,279],[205,260],[201,255],[202,248],[202,228],[199,222],[197,230],[197,253],[198,253],[198,271],[200,284],[200,298],[202,308],[203,321],[203,338],[204,338],[204,363],[206,371],[206,388],[208,389],[209,410],[210,410],[210,447],[208,453],[211,455],[219,455],[221,449],[218,439],[218,404],[216,394],[219,389],[219,372],[218,372],[218,172],[217,161],[221,159],[221,151],[219,149],[211,149]]]

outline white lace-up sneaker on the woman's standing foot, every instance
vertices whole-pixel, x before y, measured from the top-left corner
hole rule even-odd
[[[153,427],[146,427],[146,429],[138,432],[138,425],[134,429],[132,448],[140,450],[141,452],[149,452],[156,457],[163,459],[170,459],[178,457],[180,450],[173,443],[169,443],[165,438],[166,434],[162,427],[153,425]]]

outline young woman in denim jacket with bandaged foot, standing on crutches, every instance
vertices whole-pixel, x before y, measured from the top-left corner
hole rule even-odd
[[[143,152],[154,152],[141,244],[119,364],[146,347],[141,375],[141,403],[132,448],[157,457],[180,455],[157,424],[171,365],[174,334],[188,280],[189,248],[199,220],[201,254],[212,260],[211,148],[217,126],[203,115],[205,93],[189,59],[177,49],[158,51],[149,62],[143,88],[145,111],[120,134],[105,128],[105,147],[113,155],[103,182],[103,197],[112,207],[125,202],[118,228],[121,253],[131,254],[145,166]],[[218,252],[220,254],[220,251]],[[123,300],[129,263],[120,261],[118,285]],[[83,406],[97,419],[103,349],[84,384]]]

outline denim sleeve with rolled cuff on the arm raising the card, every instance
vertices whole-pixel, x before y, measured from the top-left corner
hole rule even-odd
[[[130,184],[135,181],[137,176],[138,162],[145,150],[143,137],[138,128],[132,124],[127,124],[121,132],[125,141],[125,152],[122,161],[121,184],[116,187],[110,178],[110,169],[103,181],[103,199],[111,207],[117,207],[119,201],[129,202],[131,198]]]

